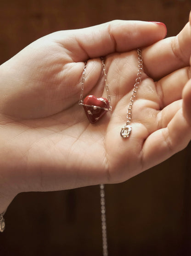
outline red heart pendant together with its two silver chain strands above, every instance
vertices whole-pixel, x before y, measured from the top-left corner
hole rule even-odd
[[[79,106],[84,107],[85,114],[89,119],[90,123],[95,124],[101,117],[107,113],[107,111],[112,110],[112,106],[110,105],[111,97],[109,94],[109,87],[107,83],[107,74],[106,74],[106,65],[104,59],[101,57],[102,61],[102,69],[104,73],[104,80],[105,80],[105,89],[107,92],[107,99],[106,98],[97,98],[94,95],[88,95],[85,97],[83,101],[84,95],[84,81],[85,81],[85,71],[87,67],[87,61],[85,62],[83,73],[82,73],[82,82],[81,82],[81,94],[79,98]]]

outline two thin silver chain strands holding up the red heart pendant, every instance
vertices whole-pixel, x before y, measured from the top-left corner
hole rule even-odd
[[[111,96],[110,96],[110,92],[109,92],[109,86],[108,86],[108,83],[107,83],[106,65],[105,65],[103,57],[101,57],[101,62],[102,62],[102,70],[103,70],[103,74],[104,74],[104,80],[105,80],[105,88],[106,88],[106,92],[107,92],[107,100],[109,102],[109,109],[106,109],[106,110],[111,111],[112,110],[112,106],[110,105]],[[82,72],[81,94],[80,94],[80,97],[79,97],[79,105],[83,105],[84,82],[85,82],[86,67],[87,67],[87,61],[85,61],[84,69],[83,69],[83,72]]]

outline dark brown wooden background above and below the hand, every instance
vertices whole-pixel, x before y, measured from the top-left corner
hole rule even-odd
[[[191,0],[0,0],[0,63],[37,38],[112,19],[161,21],[176,35]],[[191,255],[191,145],[118,185],[106,185],[110,256]],[[99,186],[18,195],[0,256],[101,256]]]

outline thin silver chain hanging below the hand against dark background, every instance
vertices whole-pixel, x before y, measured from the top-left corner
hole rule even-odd
[[[103,250],[103,256],[108,256],[107,226],[106,226],[106,200],[105,200],[104,184],[100,185],[100,203],[101,203],[102,250]]]

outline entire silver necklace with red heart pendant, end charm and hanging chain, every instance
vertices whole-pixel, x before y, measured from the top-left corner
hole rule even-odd
[[[127,123],[121,129],[120,135],[122,138],[129,137],[132,126],[129,125],[132,119],[132,107],[135,101],[138,87],[141,83],[141,78],[143,74],[143,59],[141,55],[141,50],[137,49],[138,54],[138,72],[135,80],[135,84],[133,87],[133,92],[131,94],[129,106],[127,109]],[[109,93],[109,87],[107,83],[107,74],[106,74],[106,65],[104,63],[104,59],[101,57],[102,61],[102,69],[104,73],[105,80],[105,89],[107,92],[107,99],[105,98],[97,98],[93,95],[88,95],[83,101],[84,95],[84,81],[85,81],[85,71],[87,67],[87,61],[85,62],[83,73],[82,73],[82,82],[81,82],[81,94],[79,98],[79,106],[84,107],[84,111],[90,121],[90,123],[94,124],[98,121],[107,111],[112,110],[112,106],[110,105],[111,97]],[[107,225],[106,225],[106,200],[105,200],[105,190],[104,184],[100,185],[100,203],[101,203],[101,231],[102,231],[102,252],[103,256],[108,256],[108,245],[107,245]]]

